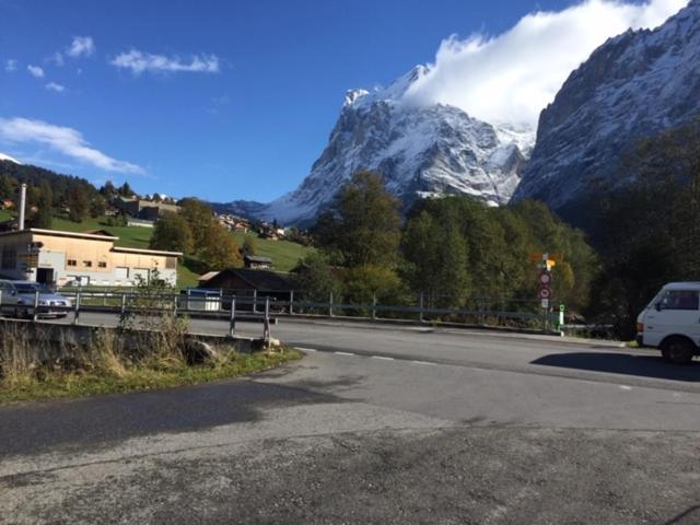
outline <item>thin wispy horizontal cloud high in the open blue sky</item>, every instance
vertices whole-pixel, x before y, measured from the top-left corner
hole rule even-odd
[[[196,72],[218,73],[219,58],[215,55],[195,55],[189,60],[182,59],[177,55],[166,57],[131,49],[128,52],[117,55],[109,63],[117,68],[129,69],[133,74],[143,72]]]

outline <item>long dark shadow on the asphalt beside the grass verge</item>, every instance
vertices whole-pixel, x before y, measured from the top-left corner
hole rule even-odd
[[[161,432],[258,421],[268,407],[345,402],[328,394],[223,381],[85,399],[0,407],[0,458],[58,447],[85,450]]]

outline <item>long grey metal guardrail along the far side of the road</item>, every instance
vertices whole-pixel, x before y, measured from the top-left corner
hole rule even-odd
[[[277,322],[271,316],[314,316],[329,318],[359,318],[366,320],[415,320],[419,323],[452,323],[465,326],[503,326],[511,323],[520,327],[537,328],[542,331],[560,329],[559,314],[548,312],[514,312],[502,308],[440,308],[424,304],[422,295],[418,305],[392,305],[380,304],[376,298],[372,303],[335,303],[332,294],[328,302],[294,300],[294,292],[280,292],[289,296],[288,300],[279,300],[275,296],[258,296],[257,292],[243,291],[200,291],[176,290],[143,292],[140,290],[62,290],[60,293],[71,299],[70,306],[43,305],[40,294],[35,293],[34,304],[21,306],[2,304],[1,314],[23,313],[25,317],[38,320],[48,316],[68,316],[72,314],[72,323],[80,324],[81,313],[113,313],[120,316],[136,315],[148,317],[149,315],[173,313],[177,316],[198,318],[212,318],[226,320],[229,334],[235,334],[236,320],[255,320],[262,324],[262,336],[266,340],[270,337],[270,324]],[[275,293],[275,292],[271,292]],[[1,302],[0,295],[0,302]],[[522,303],[533,306],[527,300],[477,300],[477,304],[505,304]],[[471,320],[468,323],[467,320]],[[495,322],[495,324],[493,323]],[[500,323],[500,325],[499,325]]]

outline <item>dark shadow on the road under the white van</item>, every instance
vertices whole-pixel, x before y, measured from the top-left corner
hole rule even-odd
[[[536,359],[532,364],[700,383],[698,363],[675,365],[665,362],[661,357],[652,355],[609,352],[550,353]]]

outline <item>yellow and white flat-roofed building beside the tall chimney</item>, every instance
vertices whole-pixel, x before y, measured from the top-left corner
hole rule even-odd
[[[63,285],[133,285],[139,277],[175,284],[178,252],[115,246],[119,237],[28,229],[0,233],[0,276]]]

